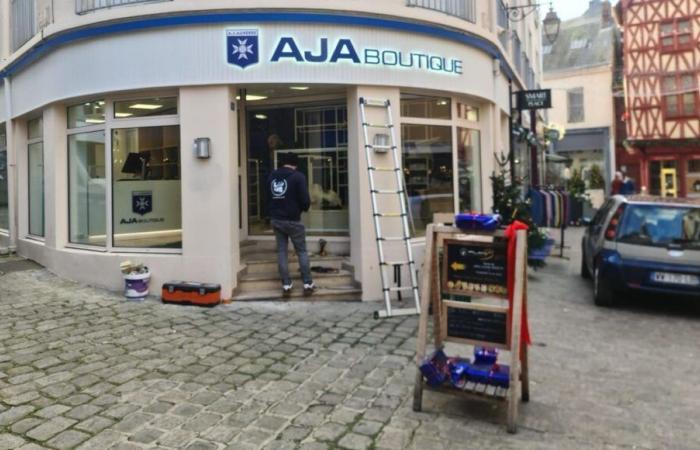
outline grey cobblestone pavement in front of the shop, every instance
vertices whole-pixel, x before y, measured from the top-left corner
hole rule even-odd
[[[374,321],[377,305],[137,304],[8,271],[0,449],[700,448],[700,314],[596,308],[577,265],[531,276],[515,435],[489,403],[428,392],[413,412],[417,321]]]

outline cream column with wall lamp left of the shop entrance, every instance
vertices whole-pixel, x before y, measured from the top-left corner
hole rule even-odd
[[[239,266],[238,126],[230,86],[180,89],[183,273],[221,284],[230,299]],[[211,140],[211,157],[197,159],[195,138]]]

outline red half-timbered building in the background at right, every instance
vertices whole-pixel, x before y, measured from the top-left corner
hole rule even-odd
[[[700,1],[621,0],[624,119],[617,166],[650,194],[700,197]]]

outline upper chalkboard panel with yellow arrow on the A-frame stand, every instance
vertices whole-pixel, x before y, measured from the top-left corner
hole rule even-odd
[[[508,297],[505,241],[487,243],[446,239],[443,254],[444,293]]]

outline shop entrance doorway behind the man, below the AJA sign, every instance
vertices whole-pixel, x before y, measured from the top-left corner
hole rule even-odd
[[[245,152],[248,236],[272,236],[267,178],[284,153],[299,157],[310,210],[302,215],[308,236],[348,236],[348,129],[345,89],[248,88]],[[241,149],[243,150],[243,149]]]

